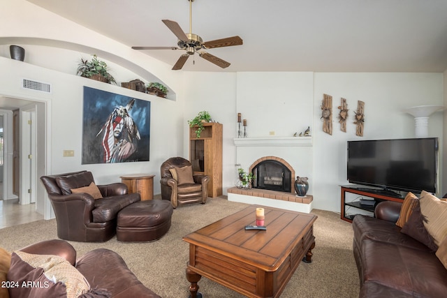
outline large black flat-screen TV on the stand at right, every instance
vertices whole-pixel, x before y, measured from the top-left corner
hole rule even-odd
[[[437,137],[348,141],[348,181],[436,193],[438,142]]]

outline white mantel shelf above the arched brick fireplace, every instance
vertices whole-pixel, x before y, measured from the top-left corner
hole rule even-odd
[[[238,137],[233,140],[236,147],[312,146],[312,137]]]

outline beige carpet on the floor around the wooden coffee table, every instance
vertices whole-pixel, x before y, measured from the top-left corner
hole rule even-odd
[[[182,236],[246,206],[229,202],[226,198],[210,198],[205,205],[178,207],[174,210],[169,232],[159,241],[120,243],[114,237],[105,243],[70,243],[78,251],[78,256],[94,248],[116,251],[140,281],[161,297],[186,298],[189,295],[189,283],[185,277],[188,244],[182,241]],[[358,297],[359,281],[351,248],[351,224],[333,212],[314,210],[312,213],[318,216],[314,225],[316,246],[313,262],[300,264],[281,298]],[[54,238],[57,238],[54,219],[0,230],[0,245],[8,251]],[[199,292],[206,298],[244,297],[207,278],[202,278],[198,284]]]

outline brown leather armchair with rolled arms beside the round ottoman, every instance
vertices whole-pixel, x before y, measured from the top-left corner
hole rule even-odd
[[[129,194],[126,184],[98,185],[103,198],[71,189],[94,183],[91,172],[80,171],[43,176],[48,198],[57,221],[57,236],[81,242],[108,241],[116,234],[117,214],[124,207],[140,201],[139,193]]]

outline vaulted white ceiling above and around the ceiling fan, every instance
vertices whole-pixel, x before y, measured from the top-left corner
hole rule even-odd
[[[161,22],[189,33],[189,0],[28,0],[124,45],[176,46]],[[243,45],[207,50],[191,71],[444,72],[446,0],[195,0],[192,33],[238,35]],[[174,65],[182,50],[145,50]]]

